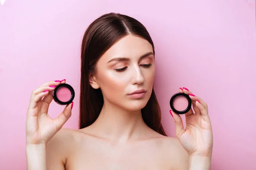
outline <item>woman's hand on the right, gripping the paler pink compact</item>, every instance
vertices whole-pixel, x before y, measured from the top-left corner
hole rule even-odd
[[[189,156],[212,156],[213,136],[212,125],[208,115],[207,104],[187,88],[180,88],[180,93],[189,94],[192,99],[192,108],[185,113],[186,129],[179,114],[170,111],[176,126],[176,136]]]

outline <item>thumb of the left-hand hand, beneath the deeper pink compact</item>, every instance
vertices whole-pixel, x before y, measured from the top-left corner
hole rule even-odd
[[[67,105],[63,112],[56,118],[53,119],[54,124],[57,126],[58,129],[61,129],[61,127],[67,122],[67,120],[71,116],[71,110],[73,108],[74,102],[71,102],[69,105]]]

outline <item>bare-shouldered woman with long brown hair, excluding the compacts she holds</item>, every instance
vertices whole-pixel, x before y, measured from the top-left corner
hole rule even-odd
[[[177,138],[168,137],[153,89],[154,54],[148,31],[134,18],[110,13],[91,23],[81,45],[80,129],[61,128],[73,103],[56,119],[47,114],[51,91],[65,79],[35,89],[26,120],[28,169],[208,170],[207,104],[180,88],[190,94],[195,113],[186,113],[185,130],[180,116],[170,111]]]

